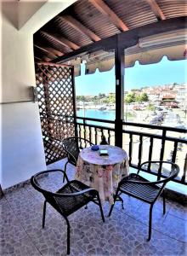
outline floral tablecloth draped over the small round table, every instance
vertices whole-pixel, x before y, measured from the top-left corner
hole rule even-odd
[[[99,148],[108,150],[108,156],[84,148],[77,160],[76,179],[99,191],[100,200],[113,203],[113,195],[122,177],[128,175],[128,157],[122,149],[111,145]]]

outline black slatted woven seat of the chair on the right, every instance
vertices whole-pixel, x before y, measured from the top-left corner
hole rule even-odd
[[[149,182],[144,177],[140,177],[138,174],[131,173],[128,177],[125,177],[120,184],[120,191],[123,193],[129,193],[134,197],[144,200],[146,202],[152,202],[156,199],[159,193],[160,187],[154,184],[139,184],[128,183],[128,181]]]

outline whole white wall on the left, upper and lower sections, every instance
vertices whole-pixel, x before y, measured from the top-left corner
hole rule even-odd
[[[0,126],[0,183],[3,189],[46,169],[37,103],[23,102],[31,100],[29,87],[36,84],[32,37],[33,32],[73,2],[75,0],[41,3],[38,11],[35,5],[32,10],[37,13],[31,17],[28,12],[30,20],[26,19],[26,13],[24,19],[20,19],[23,14],[20,17],[19,10],[23,9],[17,9],[17,1],[1,2],[1,102],[6,102],[1,105]],[[23,8],[26,9],[26,5]],[[20,30],[19,21],[24,25]]]

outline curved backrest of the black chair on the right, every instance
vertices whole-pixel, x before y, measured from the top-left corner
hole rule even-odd
[[[141,170],[156,175],[157,183],[167,183],[178,176],[179,167],[170,161],[152,160],[142,163],[139,167],[139,172]]]

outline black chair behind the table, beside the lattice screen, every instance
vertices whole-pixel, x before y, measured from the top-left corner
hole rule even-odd
[[[62,141],[62,146],[67,154],[67,162],[65,163],[65,173],[66,166],[70,163],[73,166],[77,166],[78,154],[81,149],[93,146],[94,143],[88,141],[88,139],[82,137],[67,137]],[[65,177],[64,180],[65,181]]]

